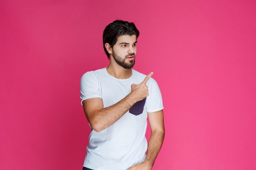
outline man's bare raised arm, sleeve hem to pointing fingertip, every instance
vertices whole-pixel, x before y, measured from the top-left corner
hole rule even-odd
[[[136,102],[148,96],[146,82],[153,75],[151,72],[140,84],[131,85],[131,93],[116,104],[103,108],[102,99],[99,97],[85,99],[83,104],[84,113],[93,130],[101,130],[111,126],[120,119]]]

